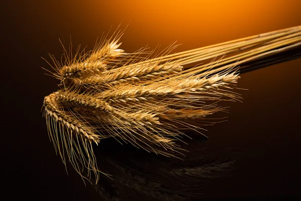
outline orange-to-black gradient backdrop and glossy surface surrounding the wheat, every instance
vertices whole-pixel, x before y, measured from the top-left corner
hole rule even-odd
[[[228,121],[207,127],[204,134],[209,136],[208,140],[195,137],[188,140],[186,148],[190,152],[184,161],[107,140],[95,152],[99,166],[114,173],[116,179],[103,178],[95,190],[88,184],[85,187],[70,165],[67,167],[70,175],[66,174],[49,142],[45,119],[40,113],[44,96],[57,90],[58,84],[43,74],[45,71],[40,67],[47,64],[40,57],[47,58],[48,52],[60,56],[58,38],[68,43],[72,35],[75,46],[88,44],[91,49],[103,31],[132,18],[121,40],[127,52],[146,44],[156,47],[162,43],[166,47],[176,40],[183,43],[177,51],[184,51],[301,24],[296,10],[298,1],[283,3],[279,8],[263,4],[255,14],[244,12],[246,6],[239,4],[235,6],[239,17],[231,16],[233,11],[225,9],[223,13],[219,9],[216,22],[211,21],[213,8],[207,15],[210,23],[204,23],[203,27],[197,23],[206,21],[204,16],[198,19],[197,15],[189,14],[189,9],[196,11],[194,8],[202,13],[201,4],[185,4],[181,18],[180,3],[173,7],[167,7],[167,3],[154,4],[147,10],[147,5],[141,9],[140,4],[132,2],[131,12],[122,12],[125,9],[122,5],[15,1],[2,6],[2,180],[3,191],[10,199],[92,200],[103,190],[109,192],[109,197],[122,193],[129,200],[143,200],[143,196],[145,200],[154,200],[156,196],[158,200],[179,199],[175,194],[194,200],[297,199],[301,178],[300,59],[243,73],[237,85],[248,89],[237,90],[243,103],[228,103],[231,106]],[[276,15],[279,12],[283,15]],[[183,22],[177,24],[179,19]],[[296,50],[290,56],[298,55]],[[231,161],[235,162],[229,164]],[[212,163],[229,166],[219,166],[222,171],[218,172],[214,169],[222,177],[188,175],[189,169],[200,175]]]

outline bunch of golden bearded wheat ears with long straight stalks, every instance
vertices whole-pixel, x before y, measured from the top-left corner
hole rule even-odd
[[[53,58],[53,76],[61,80],[61,89],[45,97],[44,115],[55,149],[79,174],[82,168],[92,171],[96,182],[100,171],[92,143],[101,139],[113,137],[174,156],[181,151],[176,141],[186,131],[200,132],[203,125],[212,124],[205,117],[224,110],[220,100],[239,98],[231,91],[239,78],[233,66],[300,46],[300,30],[294,27],[168,55],[171,47],[154,59],[141,59],[141,51],[124,53],[116,34],[92,52],[66,57],[65,65]],[[183,68],[225,54],[230,56],[210,65]]]

